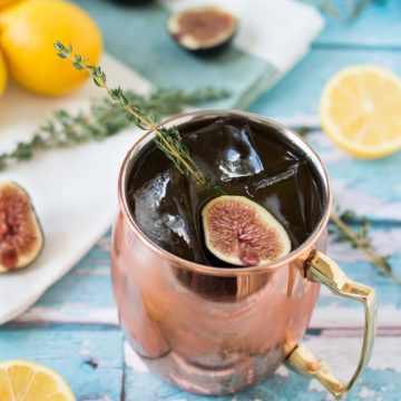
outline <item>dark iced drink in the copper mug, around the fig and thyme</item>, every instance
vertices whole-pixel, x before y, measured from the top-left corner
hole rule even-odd
[[[179,131],[212,186],[266,207],[293,250],[305,242],[323,211],[322,184],[306,154],[273,127],[241,116],[187,123]],[[202,211],[218,193],[178,172],[154,143],[133,164],[127,194],[135,221],[157,245],[192,262],[229,266],[207,250],[202,226]]]

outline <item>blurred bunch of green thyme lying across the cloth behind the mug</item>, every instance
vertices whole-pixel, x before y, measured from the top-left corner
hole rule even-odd
[[[145,113],[154,110],[159,116],[167,116],[182,113],[185,106],[223,99],[228,94],[206,88],[193,92],[158,89],[148,96],[127,90],[125,96],[129,102],[137,105]],[[12,150],[0,154],[0,170],[13,163],[29,160],[43,150],[104,140],[128,125],[126,111],[109,97],[94,99],[89,110],[77,114],[57,110],[38,128],[31,139],[19,141]]]

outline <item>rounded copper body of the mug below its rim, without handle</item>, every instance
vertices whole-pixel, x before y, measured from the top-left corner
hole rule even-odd
[[[186,390],[248,387],[273,373],[304,335],[320,288],[300,268],[309,253],[264,273],[192,272],[149,250],[120,215],[113,243],[126,336],[153,371]]]

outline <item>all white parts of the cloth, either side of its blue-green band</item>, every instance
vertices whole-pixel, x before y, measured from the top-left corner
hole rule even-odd
[[[312,7],[295,1],[208,0],[207,3],[221,4],[241,17],[234,45],[273,65],[278,71],[276,78],[306,52],[323,27],[322,18]],[[183,9],[205,1],[170,0],[166,4]],[[150,90],[148,81],[109,56],[105,56],[102,65],[111,81],[114,78],[116,84],[137,91]],[[94,96],[102,92],[91,82],[62,99],[9,88],[0,99],[0,151],[30,138],[51,110],[77,110]],[[0,180],[14,180],[29,192],[46,235],[45,251],[31,267],[0,275],[0,323],[32,305],[109,227],[117,205],[119,166],[139,135],[139,130],[130,128],[104,143],[43,153],[0,173]]]

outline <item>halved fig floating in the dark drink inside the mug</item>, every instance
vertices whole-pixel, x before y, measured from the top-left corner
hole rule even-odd
[[[291,239],[276,218],[244,196],[219,196],[202,212],[207,248],[237,266],[256,266],[291,251]]]

